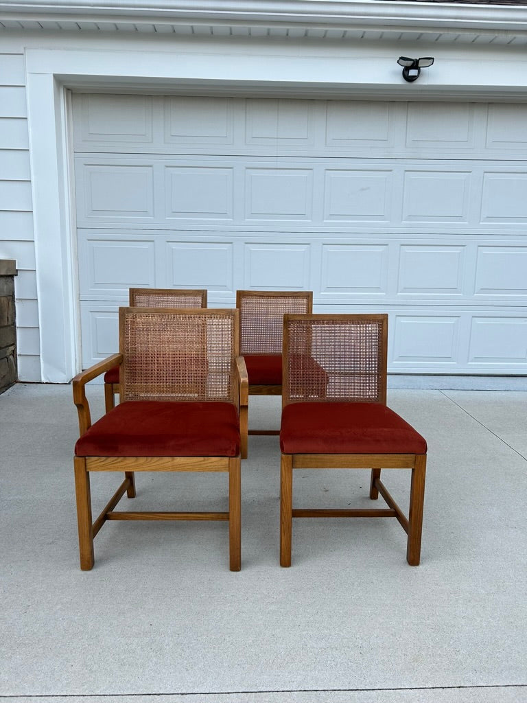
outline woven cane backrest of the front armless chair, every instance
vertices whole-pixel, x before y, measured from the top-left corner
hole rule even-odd
[[[295,316],[285,330],[284,404],[386,403],[387,316]]]

